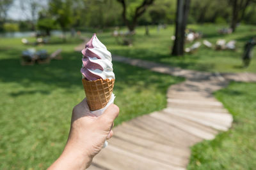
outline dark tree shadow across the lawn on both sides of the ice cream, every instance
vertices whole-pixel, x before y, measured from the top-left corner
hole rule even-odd
[[[49,85],[55,88],[63,88],[70,91],[73,88],[82,88],[81,83],[81,54],[80,52],[63,52],[63,60],[52,60],[49,64],[35,64],[34,66],[20,66],[21,51],[5,50],[4,55],[13,56],[13,58],[1,59],[0,62],[0,81],[19,83],[23,87],[42,87]],[[136,92],[154,84],[157,89],[164,89],[166,85],[159,78],[159,73],[141,69],[139,67],[129,66],[113,62],[114,73],[116,74],[116,90],[123,90],[127,87],[134,87]],[[177,78],[179,79],[179,78]],[[26,92],[11,93],[11,96],[20,96],[24,94],[33,94],[36,92],[47,94],[49,91],[38,89]]]

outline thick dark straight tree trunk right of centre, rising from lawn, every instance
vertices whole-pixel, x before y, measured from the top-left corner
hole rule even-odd
[[[172,55],[183,55],[185,42],[185,29],[188,20],[190,0],[177,0],[175,20],[175,41]]]

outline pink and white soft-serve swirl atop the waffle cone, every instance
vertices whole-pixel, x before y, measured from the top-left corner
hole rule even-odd
[[[97,79],[115,79],[113,73],[113,64],[111,53],[107,50],[106,46],[103,45],[96,34],[93,34],[92,39],[86,43],[85,48],[82,50],[83,53],[83,65],[81,73],[83,78],[87,80]]]

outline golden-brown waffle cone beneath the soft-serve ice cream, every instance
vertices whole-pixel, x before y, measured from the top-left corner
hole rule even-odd
[[[115,79],[88,81],[83,78],[82,82],[90,110],[104,108],[111,99]]]

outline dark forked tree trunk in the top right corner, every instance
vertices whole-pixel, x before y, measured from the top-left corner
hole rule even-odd
[[[256,2],[255,0],[230,0],[232,4],[232,20],[230,24],[230,29],[232,32],[236,31],[237,23],[241,22],[244,18],[244,13],[249,4]]]

